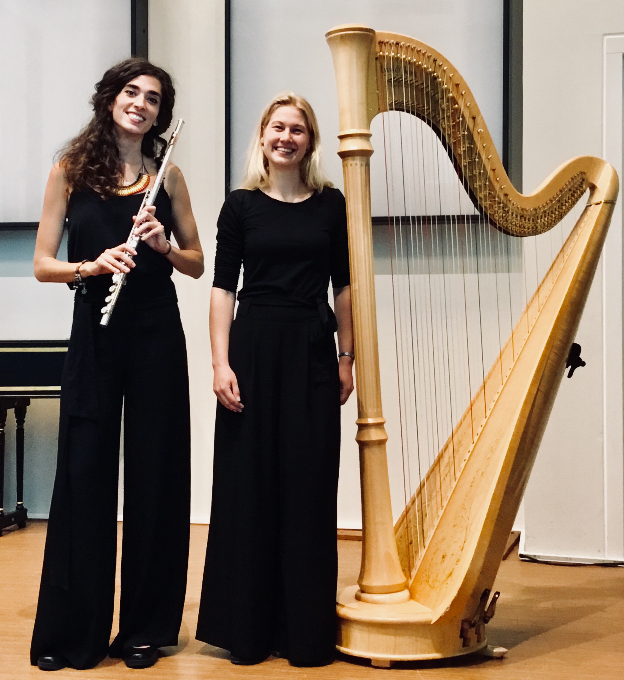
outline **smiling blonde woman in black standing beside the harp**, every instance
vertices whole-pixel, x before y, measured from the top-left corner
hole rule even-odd
[[[310,104],[278,95],[218,219],[218,404],[197,639],[235,664],[278,652],[324,666],[335,653],[340,405],[353,389],[353,345],[346,209],[321,171],[319,141]]]

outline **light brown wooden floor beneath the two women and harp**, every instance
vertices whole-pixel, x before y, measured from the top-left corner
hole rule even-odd
[[[0,538],[0,678],[41,679],[29,665],[29,644],[37,603],[46,523]],[[165,650],[156,666],[130,670],[106,659],[93,670],[60,670],[54,680],[171,679],[345,679],[435,678],[576,680],[624,677],[624,568],[552,566],[520,562],[517,550],[502,563],[495,588],[501,591],[489,641],[508,647],[504,660],[467,657],[454,662],[401,662],[390,670],[342,656],[325,668],[291,668],[283,659],[258,666],[233,666],[227,652],[195,640],[206,526],[191,527],[191,560],[180,645]],[[340,582],[355,583],[358,541],[339,541]],[[301,583],[304,596],[306,584]],[[116,622],[114,623],[116,626]],[[114,628],[114,631],[116,628]]]

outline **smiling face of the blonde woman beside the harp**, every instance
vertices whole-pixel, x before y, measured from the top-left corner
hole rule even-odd
[[[306,118],[295,106],[278,106],[260,138],[269,168],[296,168],[310,148]]]

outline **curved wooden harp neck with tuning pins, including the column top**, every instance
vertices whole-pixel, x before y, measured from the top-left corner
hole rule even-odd
[[[589,189],[590,203],[614,201],[612,167],[581,156],[557,168],[531,194],[516,191],[478,104],[457,69],[414,38],[358,24],[329,31],[338,85],[341,158],[370,156],[370,122],[381,112],[421,118],[442,140],[473,203],[493,226],[515,236],[544,233]]]

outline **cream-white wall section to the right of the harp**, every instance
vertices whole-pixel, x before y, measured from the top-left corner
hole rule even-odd
[[[621,0],[524,0],[523,182],[530,192],[564,160],[610,149],[603,139],[604,35],[624,32]],[[615,89],[613,89],[615,88]],[[619,90],[619,91],[617,91]],[[621,199],[620,199],[621,201]],[[587,367],[563,379],[525,493],[521,549],[542,558],[622,560],[621,211],[576,341]]]

